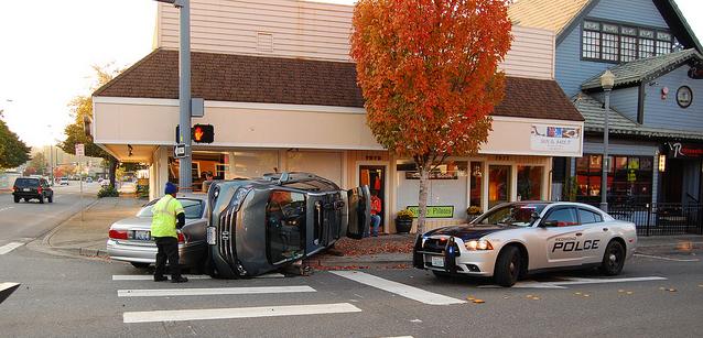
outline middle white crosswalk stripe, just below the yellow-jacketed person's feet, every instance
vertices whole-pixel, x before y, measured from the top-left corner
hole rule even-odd
[[[208,288],[156,288],[118,290],[118,297],[165,297],[165,296],[207,296],[207,295],[249,295],[269,293],[316,292],[310,286],[255,286],[255,287],[208,287]]]

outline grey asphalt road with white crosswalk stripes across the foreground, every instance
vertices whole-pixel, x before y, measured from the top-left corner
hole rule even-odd
[[[44,205],[0,195],[0,247],[77,212],[73,190]],[[697,337],[703,310],[703,250],[650,249],[618,276],[555,272],[505,288],[414,269],[154,283],[149,269],[35,247],[0,252],[0,282],[22,284],[0,304],[2,337]]]

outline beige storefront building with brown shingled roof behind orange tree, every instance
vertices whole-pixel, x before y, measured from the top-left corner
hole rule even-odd
[[[409,159],[391,156],[366,127],[349,59],[353,7],[296,0],[191,1],[192,97],[213,143],[192,144],[193,188],[215,178],[311,172],[342,188],[368,184],[394,214],[418,205]],[[93,95],[94,142],[122,162],[150,164],[150,186],[179,183],[179,11],[159,3],[154,51]],[[459,223],[469,206],[549,199],[553,156],[581,156],[583,117],[554,80],[554,34],[516,26],[500,64],[505,98],[476,156],[433,173],[428,229]],[[159,189],[151,189],[151,198]],[[441,212],[439,212],[441,211]]]

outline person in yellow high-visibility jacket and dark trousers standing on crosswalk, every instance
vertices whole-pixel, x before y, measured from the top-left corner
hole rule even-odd
[[[166,182],[164,196],[152,208],[153,221],[151,222],[151,237],[156,242],[156,268],[154,268],[154,282],[167,281],[163,273],[166,269],[166,260],[171,266],[171,282],[183,283],[188,279],[181,275],[179,265],[179,236],[175,229],[185,225],[185,210],[175,198],[179,188],[171,182]],[[176,225],[177,221],[177,225]]]

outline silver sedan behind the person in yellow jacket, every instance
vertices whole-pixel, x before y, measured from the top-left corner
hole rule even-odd
[[[201,196],[177,196],[185,209],[185,226],[177,229],[181,265],[204,268],[207,258],[205,229],[207,228],[207,201]],[[107,252],[110,259],[130,262],[136,268],[155,263],[156,244],[151,238],[152,208],[154,199],[142,207],[136,216],[121,219],[110,226]]]

